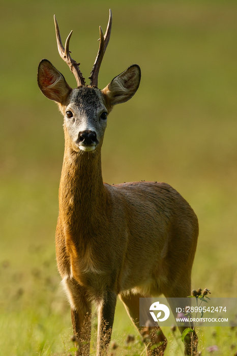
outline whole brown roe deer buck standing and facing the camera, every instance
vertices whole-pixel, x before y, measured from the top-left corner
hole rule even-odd
[[[107,115],[115,104],[132,98],[140,82],[140,68],[132,65],[103,90],[97,87],[111,21],[110,11],[105,36],[100,27],[90,85],[85,85],[79,64],[70,56],[72,32],[64,48],[55,17],[58,51],[75,75],[77,88],[72,89],[47,60],[38,69],[40,90],[64,115],[56,258],[71,305],[77,355],[90,354],[93,302],[98,307],[98,356],[107,354],[118,295],[140,333],[139,297],[188,296],[198,235],[195,213],[168,184],[103,184],[101,146]],[[149,334],[147,355],[162,355],[164,334],[159,327],[149,328]],[[190,337],[185,352],[191,354]]]

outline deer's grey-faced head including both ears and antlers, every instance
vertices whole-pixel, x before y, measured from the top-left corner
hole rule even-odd
[[[94,63],[90,85],[79,69],[79,64],[70,56],[69,34],[65,48],[62,45],[60,31],[54,16],[58,51],[70,67],[77,81],[77,88],[72,89],[61,74],[48,60],[42,60],[38,68],[38,85],[41,92],[58,104],[64,115],[65,135],[73,151],[94,151],[101,146],[107,124],[107,115],[115,104],[128,101],[136,93],[140,83],[140,68],[132,65],[123,73],[100,90],[98,74],[100,65],[109,42],[112,24],[112,14],[109,11],[109,21],[105,36],[100,28],[100,46]]]

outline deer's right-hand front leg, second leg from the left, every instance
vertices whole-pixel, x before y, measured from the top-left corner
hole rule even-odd
[[[107,354],[111,339],[117,295],[107,292],[98,310],[98,335],[96,356]]]

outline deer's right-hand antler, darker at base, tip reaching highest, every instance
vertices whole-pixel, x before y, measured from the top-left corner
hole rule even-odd
[[[106,47],[108,46],[108,43],[109,43],[111,26],[112,26],[112,12],[111,12],[111,9],[109,9],[109,21],[108,21],[105,35],[103,35],[103,31],[100,26],[100,40],[99,40],[100,47],[99,47],[99,51],[98,51],[98,54],[96,57],[96,61],[94,63],[92,71],[91,71],[91,76],[89,77],[90,85],[98,86],[98,74],[99,74],[100,65],[101,65]]]

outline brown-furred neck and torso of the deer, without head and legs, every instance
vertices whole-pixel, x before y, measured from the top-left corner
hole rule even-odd
[[[58,270],[79,315],[81,298],[100,307],[112,294],[115,307],[118,294],[123,301],[190,294],[198,224],[169,185],[103,184],[100,150],[78,155],[66,147],[59,199]]]

